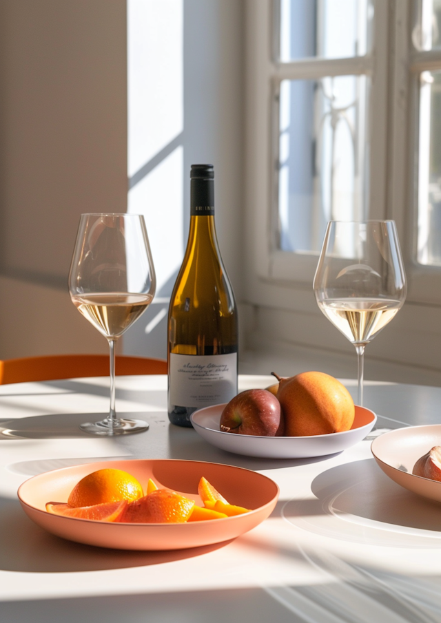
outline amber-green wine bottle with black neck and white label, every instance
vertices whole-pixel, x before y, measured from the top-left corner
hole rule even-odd
[[[237,394],[237,312],[214,226],[214,169],[192,165],[190,178],[187,249],[168,315],[168,415],[179,426]]]

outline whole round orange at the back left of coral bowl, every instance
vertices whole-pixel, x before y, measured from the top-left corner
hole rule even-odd
[[[106,468],[81,478],[70,493],[68,506],[79,508],[120,500],[132,502],[142,496],[143,487],[134,476],[122,469]]]

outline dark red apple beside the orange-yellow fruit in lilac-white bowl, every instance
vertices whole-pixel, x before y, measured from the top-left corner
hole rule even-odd
[[[283,435],[283,414],[278,399],[267,390],[246,390],[229,401],[220,416],[220,430],[240,435]]]

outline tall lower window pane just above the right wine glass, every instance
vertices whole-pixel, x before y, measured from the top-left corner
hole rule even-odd
[[[367,218],[367,76],[280,84],[283,251],[320,251],[329,220]]]

